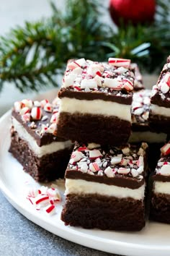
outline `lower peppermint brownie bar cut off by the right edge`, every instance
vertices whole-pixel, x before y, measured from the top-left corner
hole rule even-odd
[[[153,221],[170,223],[170,142],[161,148],[153,176],[150,218]]]

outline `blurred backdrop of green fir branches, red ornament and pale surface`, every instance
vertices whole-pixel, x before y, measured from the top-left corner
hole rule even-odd
[[[71,58],[132,59],[151,88],[170,52],[169,4],[169,0],[4,1],[0,115],[14,101],[60,86]]]

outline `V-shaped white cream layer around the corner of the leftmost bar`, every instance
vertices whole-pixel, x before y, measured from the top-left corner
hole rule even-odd
[[[24,129],[22,124],[20,124],[17,119],[12,118],[12,124],[19,137],[28,143],[30,149],[35,153],[35,155],[37,155],[38,158],[41,158],[42,155],[51,154],[71,147],[70,140],[66,140],[64,142],[52,142],[49,145],[39,147],[36,140],[26,131],[26,129]]]

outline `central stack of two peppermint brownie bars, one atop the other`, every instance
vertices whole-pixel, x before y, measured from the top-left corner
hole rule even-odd
[[[145,226],[148,145],[128,144],[134,78],[125,59],[68,62],[58,93],[58,136],[78,142],[66,170],[66,225],[126,231]]]

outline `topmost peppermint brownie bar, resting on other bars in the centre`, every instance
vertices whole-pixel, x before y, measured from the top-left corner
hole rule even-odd
[[[58,93],[58,136],[101,145],[125,145],[130,136],[134,73],[130,61],[68,62]]]

